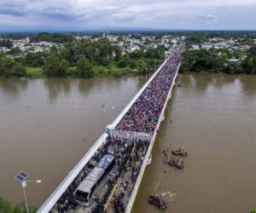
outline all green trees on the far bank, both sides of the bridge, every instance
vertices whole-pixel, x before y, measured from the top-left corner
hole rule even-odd
[[[155,41],[163,36],[186,36],[188,49],[183,54],[183,72],[225,72],[256,73],[256,47],[244,53],[240,50],[199,49],[190,50],[191,44],[207,42],[209,38],[222,37],[239,39],[240,43],[253,46],[256,34],[252,32],[152,32],[134,33],[133,38],[142,39],[143,35],[154,36]],[[122,54],[122,49],[107,39],[76,40],[72,34],[42,32],[27,35],[32,42],[59,43],[49,51],[22,55],[20,49],[11,49],[10,55],[0,54],[0,77],[79,77],[91,78],[96,75],[123,76],[127,74],[145,74],[154,72],[164,59],[165,46],[151,49],[138,49]],[[94,35],[93,37],[98,37]],[[0,46],[11,47],[10,38],[19,35],[4,36]],[[254,40],[253,40],[254,39]],[[119,37],[122,40],[122,37]],[[149,41],[148,41],[149,42]],[[19,57],[15,57],[15,56]],[[20,57],[20,55],[22,55]],[[236,58],[238,62],[228,59]]]

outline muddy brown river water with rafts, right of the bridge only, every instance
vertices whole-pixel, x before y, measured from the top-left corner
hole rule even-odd
[[[178,82],[132,213],[160,212],[147,202],[151,193],[166,200],[168,213],[249,212],[256,207],[256,77],[193,74]],[[174,170],[162,151],[181,146],[189,156],[184,170]]]

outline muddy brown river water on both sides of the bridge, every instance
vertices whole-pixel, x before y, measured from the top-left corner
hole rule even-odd
[[[144,80],[0,79],[0,194],[22,202],[14,176],[25,170],[42,180],[28,184],[28,203],[42,204]],[[151,193],[168,213],[248,212],[256,207],[256,76],[191,74],[178,82],[132,213],[160,212],[147,202]],[[174,170],[162,151],[181,146],[189,156]]]

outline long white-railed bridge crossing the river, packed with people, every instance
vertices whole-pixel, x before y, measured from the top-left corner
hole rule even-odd
[[[45,200],[38,213],[131,212],[144,171],[151,161],[151,150],[165,118],[167,102],[172,97],[183,50],[183,43],[172,49],[154,75]],[[107,170],[108,164],[103,160],[109,156],[113,156],[114,164]],[[91,184],[90,200],[80,205],[75,192],[83,183],[88,187],[86,181],[95,181],[95,184]]]

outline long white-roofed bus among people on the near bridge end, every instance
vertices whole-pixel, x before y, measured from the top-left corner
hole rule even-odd
[[[96,187],[102,181],[102,178],[113,168],[114,156],[113,154],[104,155],[96,164],[88,176],[79,184],[79,187],[74,191],[76,201],[83,206],[89,206],[90,198],[94,193]]]

